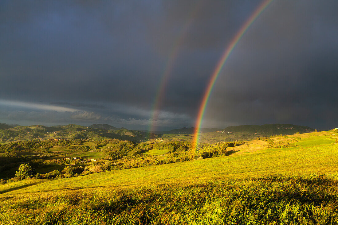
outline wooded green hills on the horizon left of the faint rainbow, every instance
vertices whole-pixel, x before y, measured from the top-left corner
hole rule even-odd
[[[146,141],[149,138],[157,138],[161,135],[152,133],[119,129],[104,130],[80,126],[76,124],[46,127],[43,125],[17,126],[8,129],[0,129],[0,142],[15,140],[42,140],[42,139],[90,139],[102,140],[115,138],[128,141]]]

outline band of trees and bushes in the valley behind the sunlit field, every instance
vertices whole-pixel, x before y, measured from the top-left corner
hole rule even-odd
[[[6,157],[0,158],[4,163],[15,162],[21,166],[16,173],[15,178],[8,181],[16,181],[26,177],[35,178],[66,178],[72,176],[83,176],[91,173],[99,173],[108,170],[120,170],[136,167],[146,167],[151,165],[169,164],[176,162],[189,161],[194,159],[218,157],[228,155],[227,147],[233,147],[244,144],[242,141],[219,142],[216,144],[199,144],[197,149],[195,145],[189,142],[169,142],[169,143],[139,143],[131,141],[122,141],[117,139],[105,139],[95,141],[97,146],[81,145],[83,140],[45,140],[45,141],[27,141],[13,142],[0,146],[0,151],[6,151]],[[71,146],[76,145],[76,146]],[[76,150],[89,151],[99,150],[103,153],[103,158],[93,161],[89,164],[81,165],[79,160],[72,159],[51,159],[46,160],[44,155],[22,155],[18,156],[14,151],[39,151],[49,149],[53,146],[66,146],[68,149],[76,147]],[[145,155],[149,150],[167,150],[166,154]],[[26,162],[29,162],[27,164]],[[17,164],[13,164],[18,167]],[[67,164],[74,164],[66,166]],[[20,165],[20,164],[19,164]],[[34,169],[59,165],[61,169],[45,174],[36,174]],[[0,171],[8,168],[1,168]]]

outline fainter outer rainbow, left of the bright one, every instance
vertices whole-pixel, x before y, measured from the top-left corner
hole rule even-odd
[[[161,108],[161,102],[163,101],[165,89],[166,89],[166,84],[168,83],[169,75],[171,74],[171,71],[173,69],[175,60],[177,58],[178,52],[179,52],[179,47],[182,45],[183,41],[185,40],[187,36],[187,31],[189,30],[192,22],[194,21],[197,12],[201,8],[203,0],[199,1],[197,4],[195,4],[194,8],[190,11],[188,15],[188,20],[185,22],[183,25],[182,29],[180,30],[180,33],[176,40],[174,41],[173,47],[169,53],[168,60],[166,62],[164,72],[162,74],[162,79],[160,81],[159,88],[156,92],[156,96],[154,99],[153,107],[152,107],[152,116],[150,118],[150,125],[149,125],[149,130],[154,131],[156,122],[159,118],[159,113],[160,113],[160,108]],[[149,134],[151,135],[151,134]],[[149,137],[151,138],[151,137]]]

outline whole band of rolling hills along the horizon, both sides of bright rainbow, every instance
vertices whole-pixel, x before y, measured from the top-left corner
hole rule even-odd
[[[90,139],[102,140],[115,138],[129,141],[146,141],[149,139],[165,138],[168,141],[186,140],[192,141],[195,128],[180,128],[170,131],[156,131],[150,133],[141,130],[128,130],[124,127],[117,128],[108,124],[93,124],[89,127],[76,124],[58,125],[46,127],[43,125],[16,126],[0,129],[0,143],[15,140],[42,140],[42,139]],[[200,128],[200,141],[204,143],[215,143],[219,141],[248,140],[258,136],[289,135],[296,132],[307,133],[314,129],[307,126],[292,124],[266,124],[266,125],[242,125],[218,128]]]

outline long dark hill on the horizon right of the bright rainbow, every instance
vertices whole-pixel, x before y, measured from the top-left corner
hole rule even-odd
[[[309,133],[313,132],[314,129],[307,126],[298,126],[293,124],[265,124],[265,125],[241,125],[227,127],[223,132],[237,132],[237,133],[253,133],[257,135],[289,135],[296,132]]]

